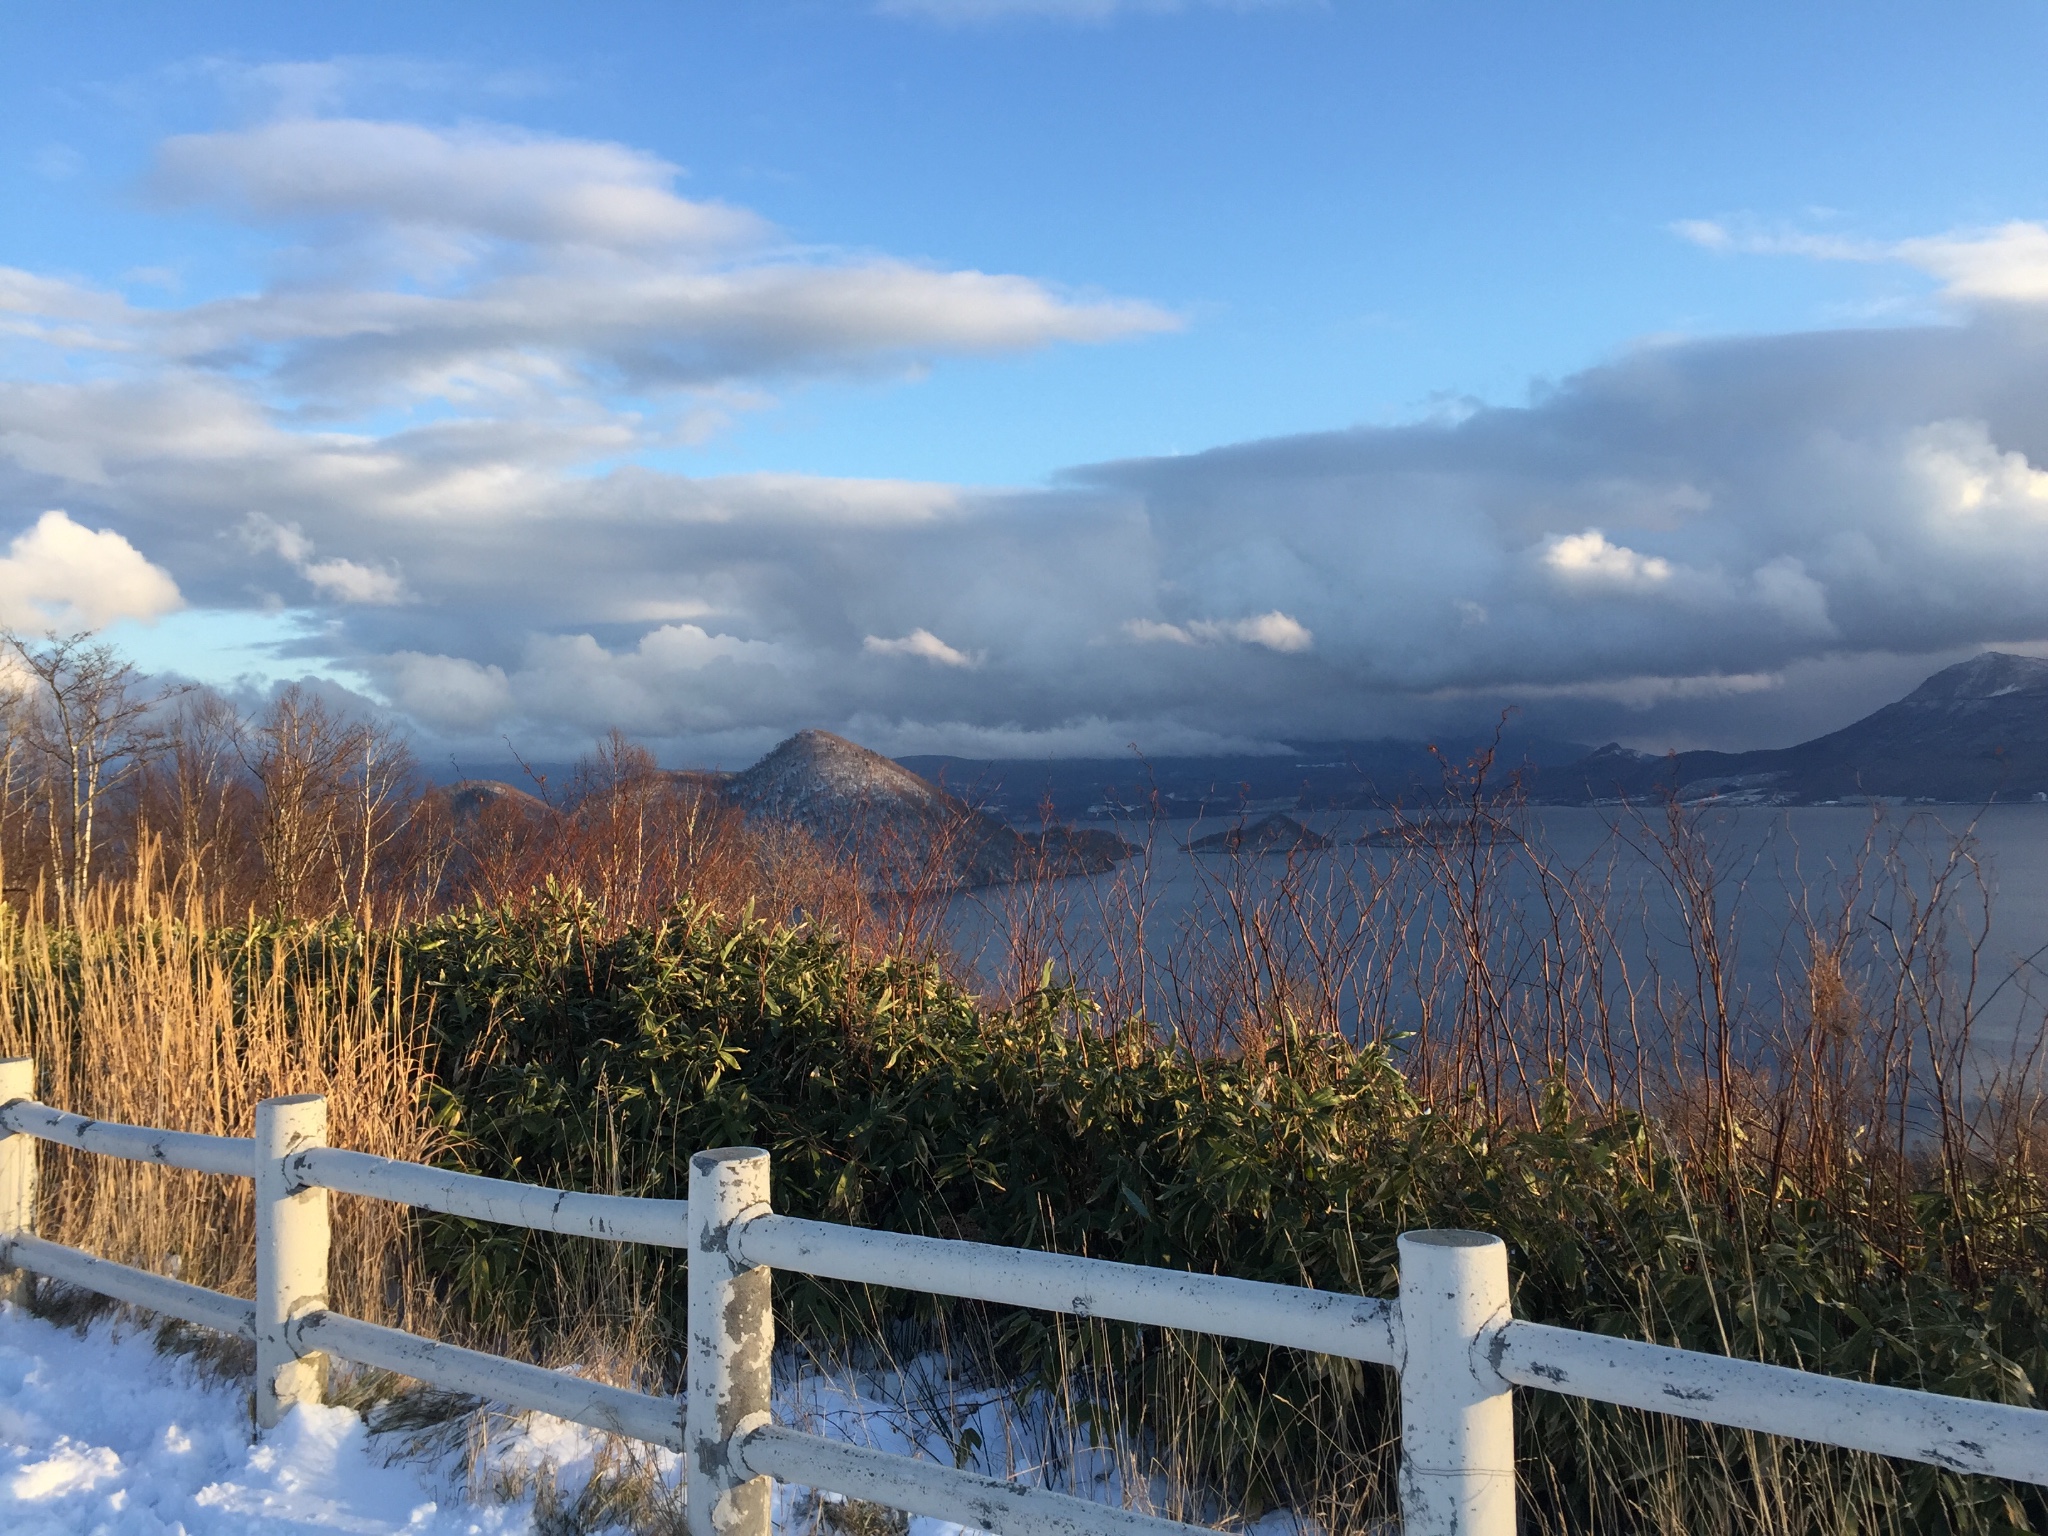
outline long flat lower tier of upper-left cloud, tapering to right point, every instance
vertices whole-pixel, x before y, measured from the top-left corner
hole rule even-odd
[[[336,406],[549,406],[614,385],[698,391],[1174,326],[1143,303],[1071,301],[1022,276],[891,260],[696,270],[567,256],[444,293],[315,289],[195,305],[156,322],[154,340],[186,362],[279,348],[279,381]]]

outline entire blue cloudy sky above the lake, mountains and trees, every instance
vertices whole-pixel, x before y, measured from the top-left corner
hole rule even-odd
[[[2040,4],[0,0],[0,625],[424,750],[2048,653]]]

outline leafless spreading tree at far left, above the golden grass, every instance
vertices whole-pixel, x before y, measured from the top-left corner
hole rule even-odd
[[[0,633],[33,676],[23,743],[41,766],[41,809],[57,870],[57,899],[76,911],[92,887],[106,799],[164,748],[160,705],[178,688],[147,688],[113,645],[92,633],[31,643]]]

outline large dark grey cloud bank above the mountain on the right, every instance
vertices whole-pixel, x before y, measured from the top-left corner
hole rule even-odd
[[[1352,719],[1413,721],[1413,700],[1446,688],[1542,700],[1552,721],[1604,702],[1794,719],[1800,696],[1726,680],[2048,637],[2044,420],[2048,330],[1985,317],[1671,342],[1522,410],[1108,467],[1096,483],[1143,496],[1159,530],[1159,596],[1137,612],[1169,621],[1124,631],[1155,641],[1143,670],[1159,692],[1223,653],[1196,651],[1180,614],[1274,608],[1315,633],[1298,682],[1264,680],[1323,721],[1288,727],[1300,735],[1343,729],[1337,696]],[[1886,668],[1858,676],[1892,688]],[[1821,688],[1808,731],[1845,723],[1839,690],[1800,686]],[[1223,719],[1280,729],[1251,678],[1225,690],[1245,702]]]

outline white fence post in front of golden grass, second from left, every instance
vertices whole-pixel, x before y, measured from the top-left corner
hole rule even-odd
[[[299,1356],[285,1323],[328,1305],[328,1192],[299,1188],[285,1159],[328,1145],[328,1100],[266,1098],[256,1106],[256,1427],[293,1403],[317,1403],[328,1356]]]

